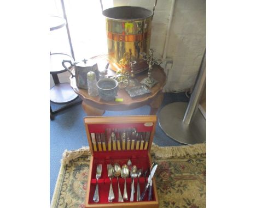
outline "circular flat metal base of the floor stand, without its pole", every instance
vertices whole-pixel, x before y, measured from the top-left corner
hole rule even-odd
[[[206,141],[206,120],[200,111],[195,112],[189,125],[182,122],[187,102],[173,102],[161,109],[159,125],[167,136],[182,144],[197,144]]]

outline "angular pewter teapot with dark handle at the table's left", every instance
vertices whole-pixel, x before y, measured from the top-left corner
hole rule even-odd
[[[69,68],[65,65],[65,63],[71,64]],[[98,81],[99,79],[99,71],[98,71],[98,65],[95,60],[92,59],[84,59],[81,62],[74,62],[72,63],[71,60],[63,60],[62,66],[71,74],[72,77],[75,77],[75,82],[77,84],[78,88],[82,89],[88,89],[87,85],[87,73],[89,71],[93,71],[96,75],[96,79]],[[70,70],[74,68],[74,74]]]

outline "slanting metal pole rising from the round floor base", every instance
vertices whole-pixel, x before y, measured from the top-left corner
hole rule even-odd
[[[206,85],[206,50],[205,50],[205,53],[203,54],[203,59],[200,66],[200,72],[197,77],[197,81],[195,83],[193,93],[191,94],[188,107],[182,121],[184,124],[189,125],[191,123],[191,120],[193,119],[195,112],[198,109],[199,101],[203,93],[203,89],[205,89],[205,85]]]

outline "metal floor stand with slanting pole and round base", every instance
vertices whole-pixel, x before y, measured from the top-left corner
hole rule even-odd
[[[159,125],[167,136],[182,144],[206,142],[206,119],[198,105],[206,86],[206,50],[189,103],[174,102],[161,109]]]

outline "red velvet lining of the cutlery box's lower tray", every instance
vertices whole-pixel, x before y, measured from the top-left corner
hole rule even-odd
[[[123,166],[123,164],[127,164],[127,161],[130,159],[132,161],[132,165],[137,166],[138,169],[143,169],[145,172],[148,168],[150,168],[149,158],[148,158],[148,151],[147,150],[126,150],[126,151],[111,151],[110,152],[94,152],[94,157],[92,161],[92,173],[91,173],[91,184],[90,184],[90,196],[89,196],[89,204],[95,204],[92,198],[94,197],[94,192],[96,188],[96,166],[97,164],[102,164],[102,174],[101,178],[98,180],[98,191],[100,195],[100,201],[98,204],[108,204],[108,193],[109,193],[109,186],[110,186],[110,180],[108,178],[107,173],[107,164],[114,164],[115,162],[119,163],[120,167]],[[149,174],[149,172],[148,172]],[[147,174],[147,176],[148,176]],[[136,193],[133,195],[134,200],[136,201],[136,195],[137,195],[137,181],[138,179],[135,179],[135,191]],[[124,179],[119,177],[119,185],[120,185],[120,191],[123,196],[124,194]],[[144,178],[141,176],[139,178],[139,185],[141,189],[141,194],[144,191]],[[112,179],[112,186],[113,191],[115,195],[115,199],[113,200],[113,203],[118,203],[118,183],[117,178]],[[131,178],[126,178],[126,188],[127,188],[127,194],[129,200],[125,202],[130,201],[131,197]],[[152,194],[153,201],[155,200],[154,192]],[[148,191],[146,193],[146,196],[144,197],[143,201],[148,200]],[[124,203],[125,203],[124,202]]]

